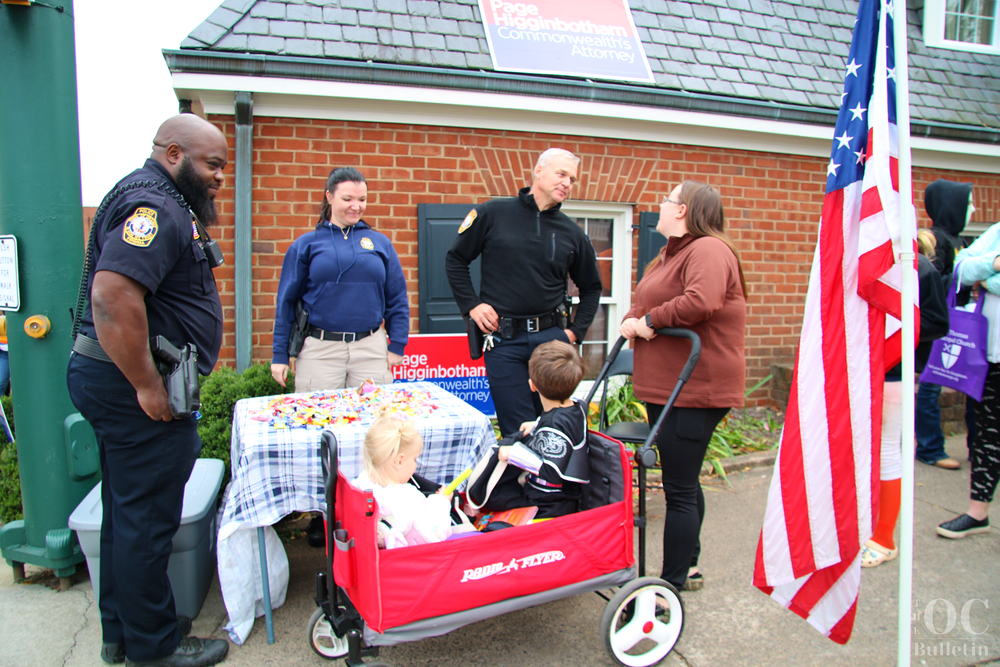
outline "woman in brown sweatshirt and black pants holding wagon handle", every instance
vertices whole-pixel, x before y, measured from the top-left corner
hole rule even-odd
[[[698,475],[712,433],[746,391],[746,282],[739,257],[723,231],[719,192],[684,181],[660,204],[656,230],[667,244],[635,290],[635,304],[619,331],[635,349],[635,395],[649,423],[663,411],[690,345],[655,329],[680,327],[701,338],[701,358],[667,415],[656,446],[667,512],[661,578],[678,590],[701,588],[698,535],[705,498]]]

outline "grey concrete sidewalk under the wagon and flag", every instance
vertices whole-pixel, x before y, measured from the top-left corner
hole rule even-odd
[[[916,464],[913,559],[912,664],[1000,664],[1000,529],[963,540],[938,537],[934,527],[965,511],[969,464],[965,436],[948,440],[960,471]],[[767,458],[764,458],[764,462]],[[754,465],[759,465],[757,460]],[[805,621],[750,585],[757,536],[772,468],[729,473],[730,484],[706,482],[701,565],[705,587],[685,593],[684,634],[663,662],[670,667],[768,665],[895,665],[897,562],[864,570],[854,634],[846,646],[822,637]],[[1000,521],[994,502],[994,521]],[[650,496],[648,570],[657,574],[662,553],[662,496]],[[291,583],[274,612],[275,637],[267,644],[260,618],[243,646],[232,646],[226,665],[324,665],[306,637],[315,572],[323,552],[305,540],[286,545]],[[0,665],[97,667],[100,618],[86,568],[72,590],[59,593],[39,581],[14,584],[0,565]],[[29,575],[38,570],[28,568]],[[926,617],[930,608],[930,616]],[[382,649],[396,667],[502,665],[605,666],[600,620],[605,603],[587,594],[467,626],[442,637]],[[963,614],[963,610],[965,613]],[[949,620],[949,612],[951,620]],[[224,636],[225,609],[212,587],[194,634]]]

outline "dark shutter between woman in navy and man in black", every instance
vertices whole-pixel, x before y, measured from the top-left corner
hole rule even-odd
[[[451,293],[444,258],[462,220],[475,204],[417,205],[417,266],[420,271],[420,333],[465,333],[465,322]],[[469,267],[479,291],[481,260]]]

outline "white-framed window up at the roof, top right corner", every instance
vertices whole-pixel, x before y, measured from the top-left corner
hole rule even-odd
[[[927,0],[924,42],[927,46],[1000,54],[997,0]]]

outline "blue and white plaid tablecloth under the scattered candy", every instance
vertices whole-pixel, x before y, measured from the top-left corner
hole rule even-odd
[[[393,385],[427,391],[437,410],[416,420],[424,441],[417,472],[444,484],[473,466],[496,439],[483,413],[454,394],[430,382]],[[305,396],[306,394],[303,394]],[[233,479],[225,499],[221,528],[270,526],[295,511],[324,510],[320,467],[320,436],[315,429],[275,429],[249,417],[273,397],[248,398],[236,403],[233,415]],[[334,429],[339,465],[348,479],[361,472],[361,445],[372,417]]]

